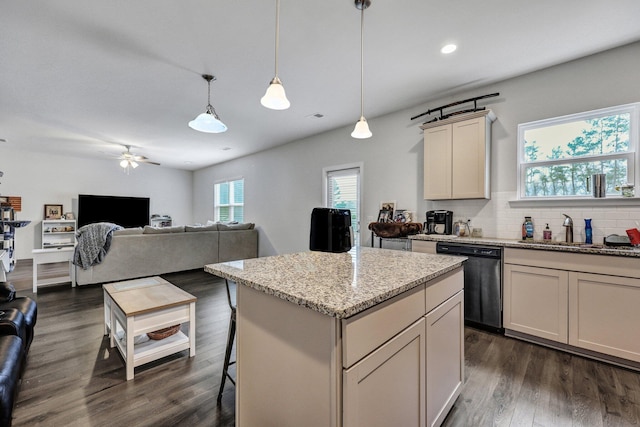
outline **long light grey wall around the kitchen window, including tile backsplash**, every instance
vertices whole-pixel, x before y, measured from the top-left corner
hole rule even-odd
[[[322,204],[322,168],[362,162],[365,227],[377,217],[381,201],[395,200],[398,208],[417,211],[420,221],[424,221],[428,209],[450,208],[456,218],[471,218],[474,226],[482,227],[485,236],[491,237],[519,238],[520,224],[527,214],[534,216],[537,232],[542,232],[542,222],[549,221],[557,236],[563,231],[562,212],[574,217],[576,236],[580,236],[585,215],[594,218],[595,239],[613,231],[624,234],[623,227],[640,218],[638,208],[532,210],[511,208],[508,200],[516,196],[518,123],[640,101],[639,69],[640,43],[635,43],[473,92],[368,118],[374,135],[368,140],[352,139],[352,129],[348,127],[196,171],[194,219],[202,222],[212,217],[214,182],[242,176],[245,220],[260,228],[260,255],[306,250],[311,210]],[[424,201],[421,120],[412,122],[410,117],[442,104],[493,92],[500,92],[500,97],[480,104],[487,105],[498,117],[492,128],[492,199]],[[363,233],[363,237],[363,244],[369,244],[369,234]]]

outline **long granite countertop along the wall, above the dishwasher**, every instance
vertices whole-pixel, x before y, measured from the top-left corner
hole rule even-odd
[[[510,239],[492,239],[488,237],[475,238],[475,237],[457,237],[455,235],[437,235],[437,234],[415,234],[409,236],[411,240],[426,240],[430,242],[448,242],[448,243],[463,243],[472,245],[493,245],[501,246],[505,248],[516,249],[534,249],[541,251],[556,251],[556,252],[574,252],[591,255],[611,255],[611,256],[623,256],[631,258],[640,258],[640,248],[633,246],[604,246],[600,244],[587,245],[584,243],[566,243],[557,240],[544,241],[544,240],[531,240],[520,241]]]

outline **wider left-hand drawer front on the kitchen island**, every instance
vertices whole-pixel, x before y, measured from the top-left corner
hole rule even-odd
[[[424,285],[342,320],[342,366],[358,360],[424,316]]]

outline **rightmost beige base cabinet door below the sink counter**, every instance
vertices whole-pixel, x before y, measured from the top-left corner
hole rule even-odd
[[[569,344],[640,362],[640,280],[570,273]]]

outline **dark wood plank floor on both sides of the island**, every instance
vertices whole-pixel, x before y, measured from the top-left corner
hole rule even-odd
[[[102,335],[101,287],[41,288],[14,427],[235,425],[233,385],[216,404],[229,321],[224,282],[202,271],[163,277],[198,297],[197,355],[136,368],[126,381]],[[34,296],[20,264],[10,280]],[[475,329],[465,340],[465,386],[445,426],[640,425],[636,372]]]

